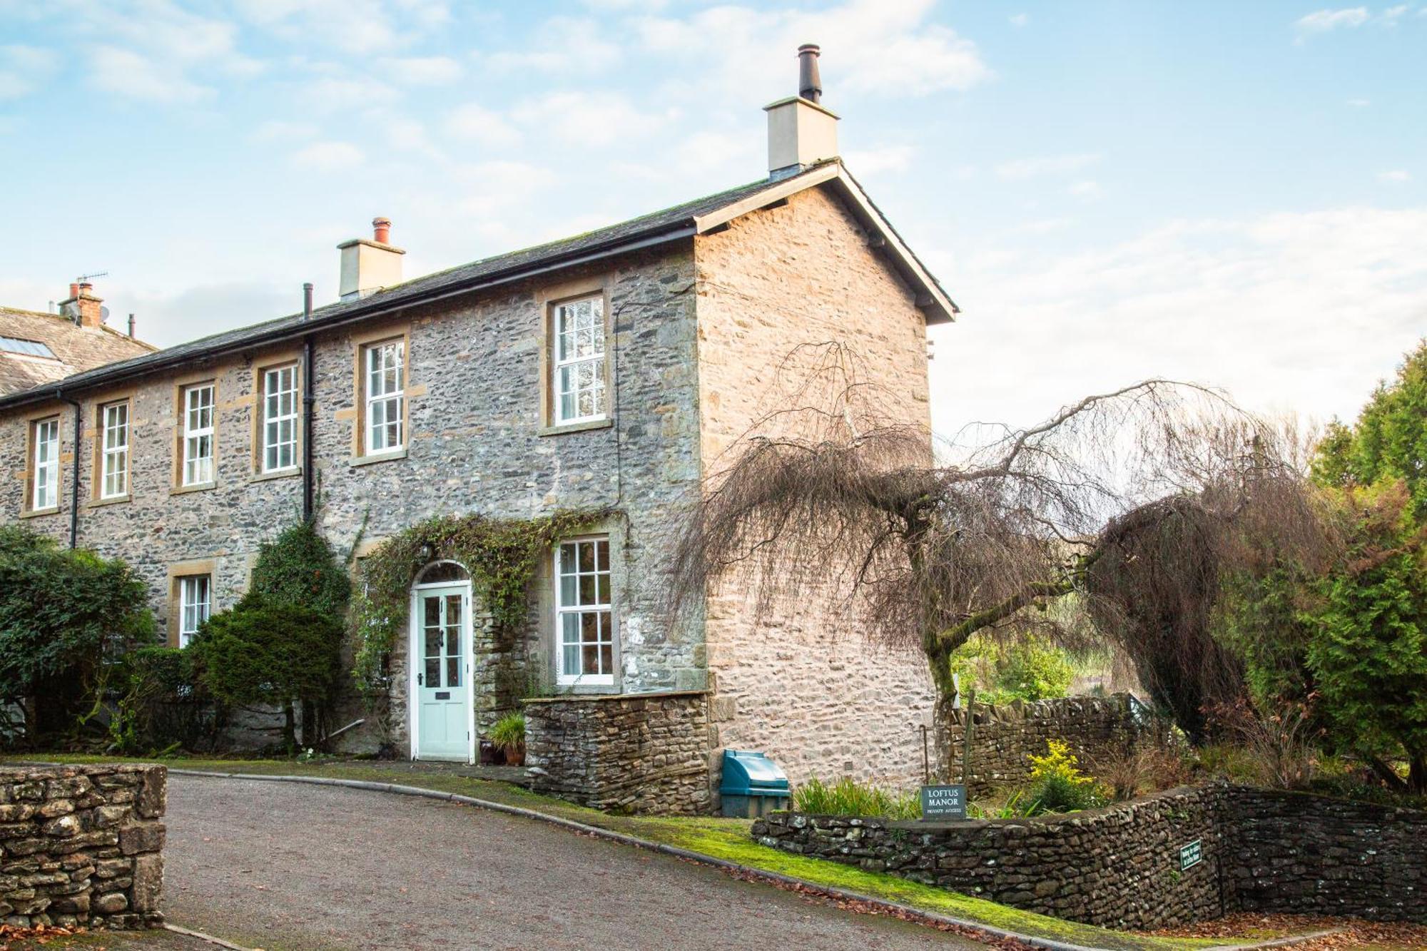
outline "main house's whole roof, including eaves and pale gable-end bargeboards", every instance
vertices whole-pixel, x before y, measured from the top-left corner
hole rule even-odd
[[[822,184],[836,188],[862,226],[882,238],[880,247],[886,251],[889,263],[896,267],[908,286],[916,293],[918,306],[926,313],[928,323],[952,320],[956,314],[956,304],[952,303],[936,278],[912,254],[856,180],[848,174],[842,163],[829,160],[786,178],[762,178],[575,237],[424,274],[394,287],[382,288],[360,300],[338,301],[318,307],[313,311],[310,320],[303,320],[303,314],[300,313],[288,314],[287,317],[278,317],[261,324],[251,324],[238,330],[203,337],[201,340],[166,347],[164,350],[147,353],[121,363],[76,373],[63,380],[63,388],[74,391],[110,384],[214,357],[220,353],[291,340],[313,331],[388,314],[441,297],[465,294],[484,287],[524,280],[544,271],[594,261],[611,254],[622,254],[639,247],[709,233],[735,217]],[[54,383],[54,380],[47,380],[46,383]],[[0,393],[0,407],[34,403],[49,398],[51,394],[53,388],[31,393]]]

